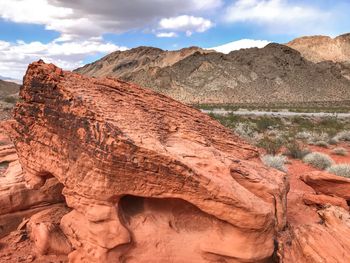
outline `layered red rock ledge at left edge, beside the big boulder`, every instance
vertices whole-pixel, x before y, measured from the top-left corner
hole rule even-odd
[[[26,217],[62,203],[63,185],[51,178],[38,189],[27,187],[14,145],[0,129],[0,238]]]

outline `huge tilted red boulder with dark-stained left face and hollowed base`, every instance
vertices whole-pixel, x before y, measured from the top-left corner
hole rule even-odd
[[[286,224],[285,175],[209,116],[41,61],[20,95],[6,127],[28,184],[64,185],[71,262],[272,259]]]

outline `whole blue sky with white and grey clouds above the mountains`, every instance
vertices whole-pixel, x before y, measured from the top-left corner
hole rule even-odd
[[[67,70],[116,50],[227,53],[350,32],[350,0],[0,0],[0,76],[38,59]]]

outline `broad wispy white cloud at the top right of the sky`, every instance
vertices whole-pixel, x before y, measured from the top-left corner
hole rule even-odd
[[[238,0],[229,5],[224,14],[226,22],[259,24],[274,33],[317,32],[329,22],[330,13],[288,0]]]

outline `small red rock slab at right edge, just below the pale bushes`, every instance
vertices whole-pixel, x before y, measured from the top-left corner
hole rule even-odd
[[[311,172],[301,179],[310,185],[317,193],[338,196],[350,200],[350,179],[326,172]]]

